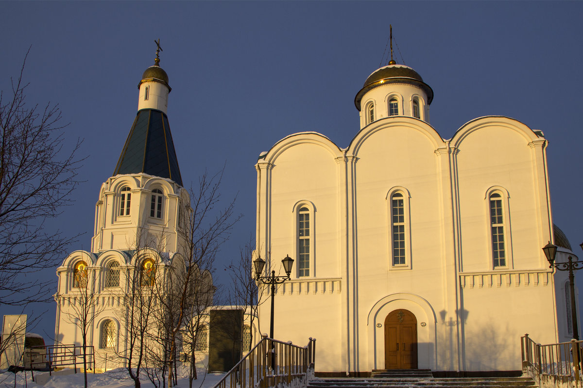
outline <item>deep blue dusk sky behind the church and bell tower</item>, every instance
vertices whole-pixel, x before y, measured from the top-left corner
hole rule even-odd
[[[433,88],[430,124],[449,139],[464,123],[503,115],[542,130],[553,221],[583,257],[582,1],[2,2],[0,89],[27,50],[27,99],[58,103],[68,144],[85,139],[84,182],[51,227],[85,233],[90,249],[101,183],[134,121],[138,83],[154,64],[172,91],[168,120],[185,187],[219,172],[243,218],[219,254],[215,282],[255,231],[255,162],[281,138],[317,131],[345,148],[359,130],[354,96],[395,59]],[[496,144],[484,144],[496,147]],[[226,203],[225,203],[226,204]],[[540,247],[547,241],[540,241]],[[64,259],[64,258],[63,258]],[[54,277],[56,267],[47,268]],[[583,281],[583,270],[578,274]],[[277,307],[276,307],[277,308]],[[36,332],[54,335],[54,303]],[[19,311],[2,307],[0,315]],[[30,314],[30,311],[27,311]],[[46,336],[45,336],[46,338]],[[517,339],[518,341],[518,339]]]

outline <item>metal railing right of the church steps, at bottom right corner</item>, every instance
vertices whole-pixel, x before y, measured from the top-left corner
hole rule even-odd
[[[541,345],[525,334],[520,342],[522,373],[535,379],[539,386],[550,383],[583,387],[581,375],[583,341],[571,340]]]

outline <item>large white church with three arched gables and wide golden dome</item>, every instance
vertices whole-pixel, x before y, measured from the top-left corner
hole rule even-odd
[[[520,337],[571,339],[541,131],[476,118],[443,138],[433,90],[391,60],[357,92],[360,129],[341,148],[291,134],[257,165],[257,251],[275,296],[275,337],[317,339],[316,372],[519,371]],[[567,293],[566,293],[567,291]],[[269,322],[270,305],[259,307]]]

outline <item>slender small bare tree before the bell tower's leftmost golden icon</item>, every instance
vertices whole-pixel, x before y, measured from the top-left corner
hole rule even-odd
[[[97,282],[97,270],[87,268],[85,262],[81,262],[85,268],[76,268],[73,274],[73,287],[77,291],[76,295],[70,295],[72,303],[65,310],[66,319],[69,323],[77,326],[81,332],[83,346],[83,374],[85,378],[85,388],[87,388],[87,336],[93,323],[106,309],[106,305],[99,303],[99,284]],[[57,303],[60,296],[55,296]],[[95,368],[95,352],[93,351],[93,368]]]

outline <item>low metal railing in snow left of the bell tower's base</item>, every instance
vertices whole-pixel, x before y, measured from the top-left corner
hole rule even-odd
[[[38,350],[43,350],[43,357],[38,357],[40,355]],[[95,353],[93,346],[86,346],[87,353],[85,354],[87,368],[90,369],[93,364],[93,373],[95,373]],[[57,366],[68,366],[73,365],[75,368],[75,373],[77,373],[77,366],[83,365],[83,346],[78,345],[52,345],[52,346],[31,346],[29,353],[35,353],[37,358],[41,358],[41,361],[31,362],[30,366],[33,371],[33,381],[34,381],[34,369],[35,366],[42,366],[48,368],[48,373],[52,375],[52,370]],[[85,367],[85,366],[84,366]]]

